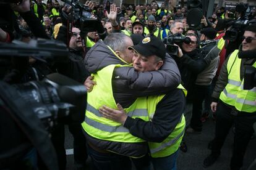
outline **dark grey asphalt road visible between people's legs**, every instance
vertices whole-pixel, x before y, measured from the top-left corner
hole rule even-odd
[[[177,158],[177,169],[184,170],[226,170],[229,169],[229,161],[232,156],[232,147],[233,147],[233,132],[230,131],[229,135],[224,143],[223,149],[221,150],[221,155],[216,161],[215,164],[209,168],[203,168],[203,159],[210,154],[207,145],[211,139],[213,139],[215,131],[215,123],[211,118],[207,119],[203,123],[202,134],[186,134],[185,140],[188,147],[186,153],[179,152]],[[67,169],[74,169],[74,160],[72,155],[72,136],[69,134],[69,131],[66,128],[66,149],[67,153]],[[71,149],[71,150],[70,150]],[[256,158],[256,137],[254,137],[247,147],[247,152],[244,157],[244,166],[241,170],[247,169],[252,161]],[[92,169],[90,166],[90,158],[87,160],[86,169]]]

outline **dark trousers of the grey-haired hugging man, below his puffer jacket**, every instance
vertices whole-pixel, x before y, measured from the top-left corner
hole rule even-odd
[[[149,156],[143,156],[142,158],[130,158],[128,156],[122,156],[111,152],[98,152],[88,145],[88,154],[92,158],[93,170],[131,170],[132,162],[137,170],[149,170],[150,160]]]

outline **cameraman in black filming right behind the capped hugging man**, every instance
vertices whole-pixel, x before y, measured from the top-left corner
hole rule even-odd
[[[178,46],[178,54],[174,56],[174,60],[176,60],[179,71],[181,72],[182,85],[187,89],[187,106],[184,116],[187,122],[186,126],[188,126],[192,114],[192,101],[197,97],[197,94],[194,94],[195,80],[198,73],[203,71],[208,63],[207,60],[203,59],[204,56],[197,49],[198,37],[195,34],[187,34],[186,37],[190,38],[189,44],[183,42],[181,47]],[[181,144],[181,150],[187,152],[187,146],[184,142]]]

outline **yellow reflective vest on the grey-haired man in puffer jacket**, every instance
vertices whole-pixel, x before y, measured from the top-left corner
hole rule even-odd
[[[92,92],[87,94],[87,110],[85,121],[82,123],[83,129],[96,139],[125,143],[144,142],[139,137],[132,136],[122,124],[103,118],[98,112],[103,105],[117,109],[112,91],[112,75],[116,67],[122,67],[122,65],[109,65],[93,74],[97,84],[93,87]],[[132,118],[148,121],[147,97],[138,98],[124,110]]]

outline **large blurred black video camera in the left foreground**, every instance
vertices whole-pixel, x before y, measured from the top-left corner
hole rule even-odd
[[[45,76],[43,81],[7,83],[6,79],[22,72],[12,65],[17,59],[33,56],[53,64],[65,63],[69,55],[66,45],[55,40],[14,42],[0,43],[0,129],[7,129],[1,131],[0,169],[19,169],[19,161],[33,147],[46,168],[58,169],[49,133],[59,121],[82,123],[87,91],[83,84],[58,73]]]

